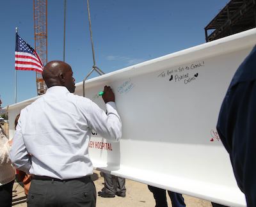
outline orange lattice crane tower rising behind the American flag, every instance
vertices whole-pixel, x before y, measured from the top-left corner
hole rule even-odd
[[[47,63],[47,0],[34,0],[35,50],[42,63]],[[37,95],[46,92],[42,73],[36,72]]]

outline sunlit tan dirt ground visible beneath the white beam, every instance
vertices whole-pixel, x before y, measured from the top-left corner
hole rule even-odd
[[[92,180],[95,183],[97,192],[104,187],[104,178],[99,171],[94,171]],[[154,207],[156,206],[153,194],[148,190],[147,185],[132,180],[126,180],[127,189],[125,197],[100,197],[97,196],[97,207]],[[183,195],[187,207],[212,207],[211,202]],[[170,197],[167,196],[168,206],[172,206]],[[12,206],[27,206],[26,196],[22,183],[15,180],[13,185],[13,204]]]

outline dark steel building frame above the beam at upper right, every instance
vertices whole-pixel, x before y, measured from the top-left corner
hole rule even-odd
[[[204,28],[205,40],[211,42],[256,27],[255,0],[231,0]],[[212,31],[208,35],[208,31]]]

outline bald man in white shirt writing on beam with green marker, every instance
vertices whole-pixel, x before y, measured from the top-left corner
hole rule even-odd
[[[33,174],[28,206],[95,206],[90,135],[94,130],[110,141],[120,140],[115,95],[104,87],[106,114],[88,98],[73,94],[75,79],[67,63],[51,61],[42,75],[48,89],[20,112],[10,151],[13,165]]]

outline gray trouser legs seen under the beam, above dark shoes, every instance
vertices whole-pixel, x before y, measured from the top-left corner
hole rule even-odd
[[[117,194],[117,195],[125,195],[126,188],[125,188],[125,178],[116,177],[116,190],[112,180],[112,175],[103,173],[104,181],[105,181],[105,188],[106,193],[108,194]]]

